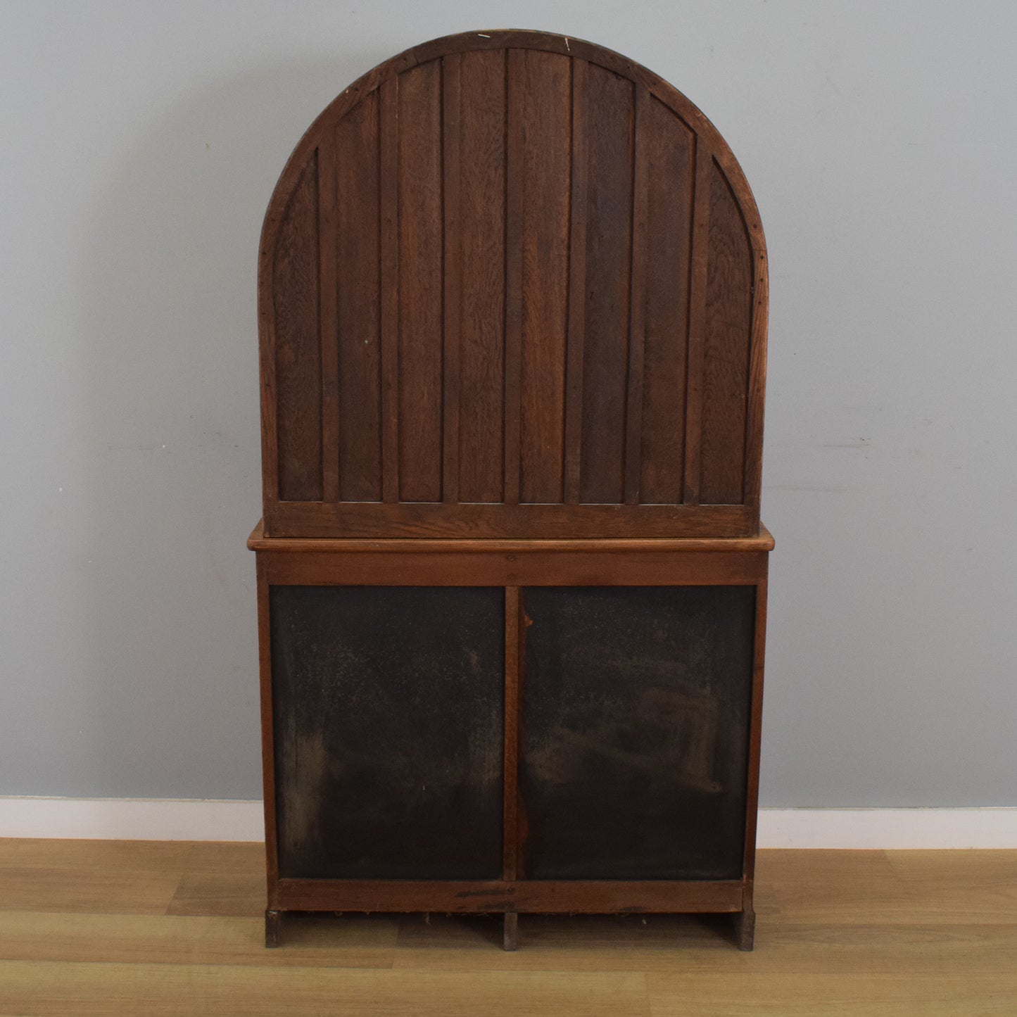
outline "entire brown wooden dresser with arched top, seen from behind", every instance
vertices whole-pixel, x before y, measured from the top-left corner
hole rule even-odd
[[[675,88],[471,33],[350,85],[261,238],[268,945],[288,911],[754,935],[767,265]]]

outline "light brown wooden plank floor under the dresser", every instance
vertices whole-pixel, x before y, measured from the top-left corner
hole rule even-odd
[[[261,845],[0,840],[0,1014],[1017,1015],[1017,851],[763,851],[726,919],[288,919]]]

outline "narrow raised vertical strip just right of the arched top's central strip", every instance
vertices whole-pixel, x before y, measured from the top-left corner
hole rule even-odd
[[[569,337],[565,365],[565,501],[578,504],[582,478],[583,360],[586,335],[587,68],[572,61],[572,194],[569,219]]]

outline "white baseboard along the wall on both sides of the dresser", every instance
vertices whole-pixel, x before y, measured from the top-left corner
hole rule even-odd
[[[0,797],[0,837],[262,840],[260,801]],[[758,843],[1017,848],[1017,809],[761,809]]]

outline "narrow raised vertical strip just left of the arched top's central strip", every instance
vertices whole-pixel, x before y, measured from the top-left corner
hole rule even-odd
[[[442,481],[446,502],[459,500],[460,325],[462,321],[462,232],[460,222],[460,70],[462,57],[451,53],[441,69],[441,159],[444,221],[442,245],[444,299],[442,307]]]

